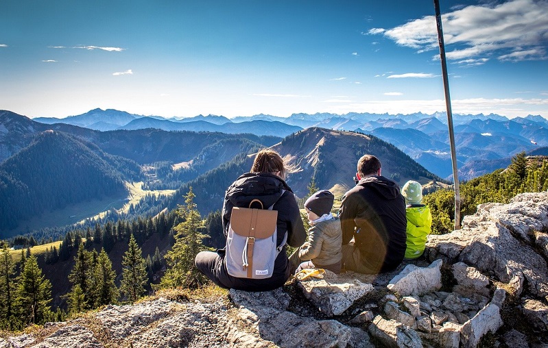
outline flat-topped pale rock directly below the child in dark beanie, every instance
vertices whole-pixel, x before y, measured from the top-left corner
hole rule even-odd
[[[373,290],[372,284],[362,283],[349,273],[336,275],[328,270],[322,279],[310,277],[298,284],[305,297],[326,316],[342,314],[355,300]]]

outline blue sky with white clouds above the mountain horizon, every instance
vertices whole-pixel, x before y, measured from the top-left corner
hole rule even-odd
[[[548,118],[548,1],[440,5],[453,113]],[[445,110],[427,0],[3,0],[0,90],[29,117]]]

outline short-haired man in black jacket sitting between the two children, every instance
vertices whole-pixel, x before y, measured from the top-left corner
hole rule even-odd
[[[342,267],[364,274],[393,271],[405,256],[405,199],[396,182],[381,176],[375,156],[359,159],[356,178],[339,210]]]

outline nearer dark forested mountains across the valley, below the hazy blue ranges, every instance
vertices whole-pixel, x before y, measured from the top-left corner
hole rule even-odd
[[[318,187],[342,195],[353,186],[355,166],[364,153],[379,156],[383,175],[401,184],[411,178],[424,184],[442,182],[375,136],[320,127],[285,138],[150,128],[101,132],[63,123],[46,125],[8,111],[0,112],[0,125],[4,157],[0,162],[0,231],[9,229],[10,234],[20,231],[17,226],[23,221],[67,204],[115,194],[128,197],[124,182],[140,181],[150,190],[177,190],[171,197],[134,207],[134,214],[175,208],[189,186],[193,186],[202,214],[215,211],[222,205],[224,190],[250,170],[252,154],[264,147],[281,153],[291,171],[288,183],[298,197],[307,194],[312,178]],[[110,178],[113,184],[108,184]]]

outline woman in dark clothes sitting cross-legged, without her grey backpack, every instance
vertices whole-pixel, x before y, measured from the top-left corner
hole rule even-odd
[[[283,243],[285,234],[287,232],[287,244],[291,247],[300,247],[305,242],[307,234],[295,195],[284,181],[285,172],[283,160],[276,151],[262,150],[255,156],[250,173],[241,175],[226,190],[222,211],[225,236],[228,234],[233,208],[248,208],[253,199],[259,199],[264,209],[272,206],[272,210],[277,210],[276,246],[284,245],[274,262],[272,276],[264,279],[234,277],[228,274],[224,249],[219,249],[216,253],[198,253],[195,258],[196,267],[218,286],[246,291],[267,291],[283,286],[289,278],[291,267]]]

